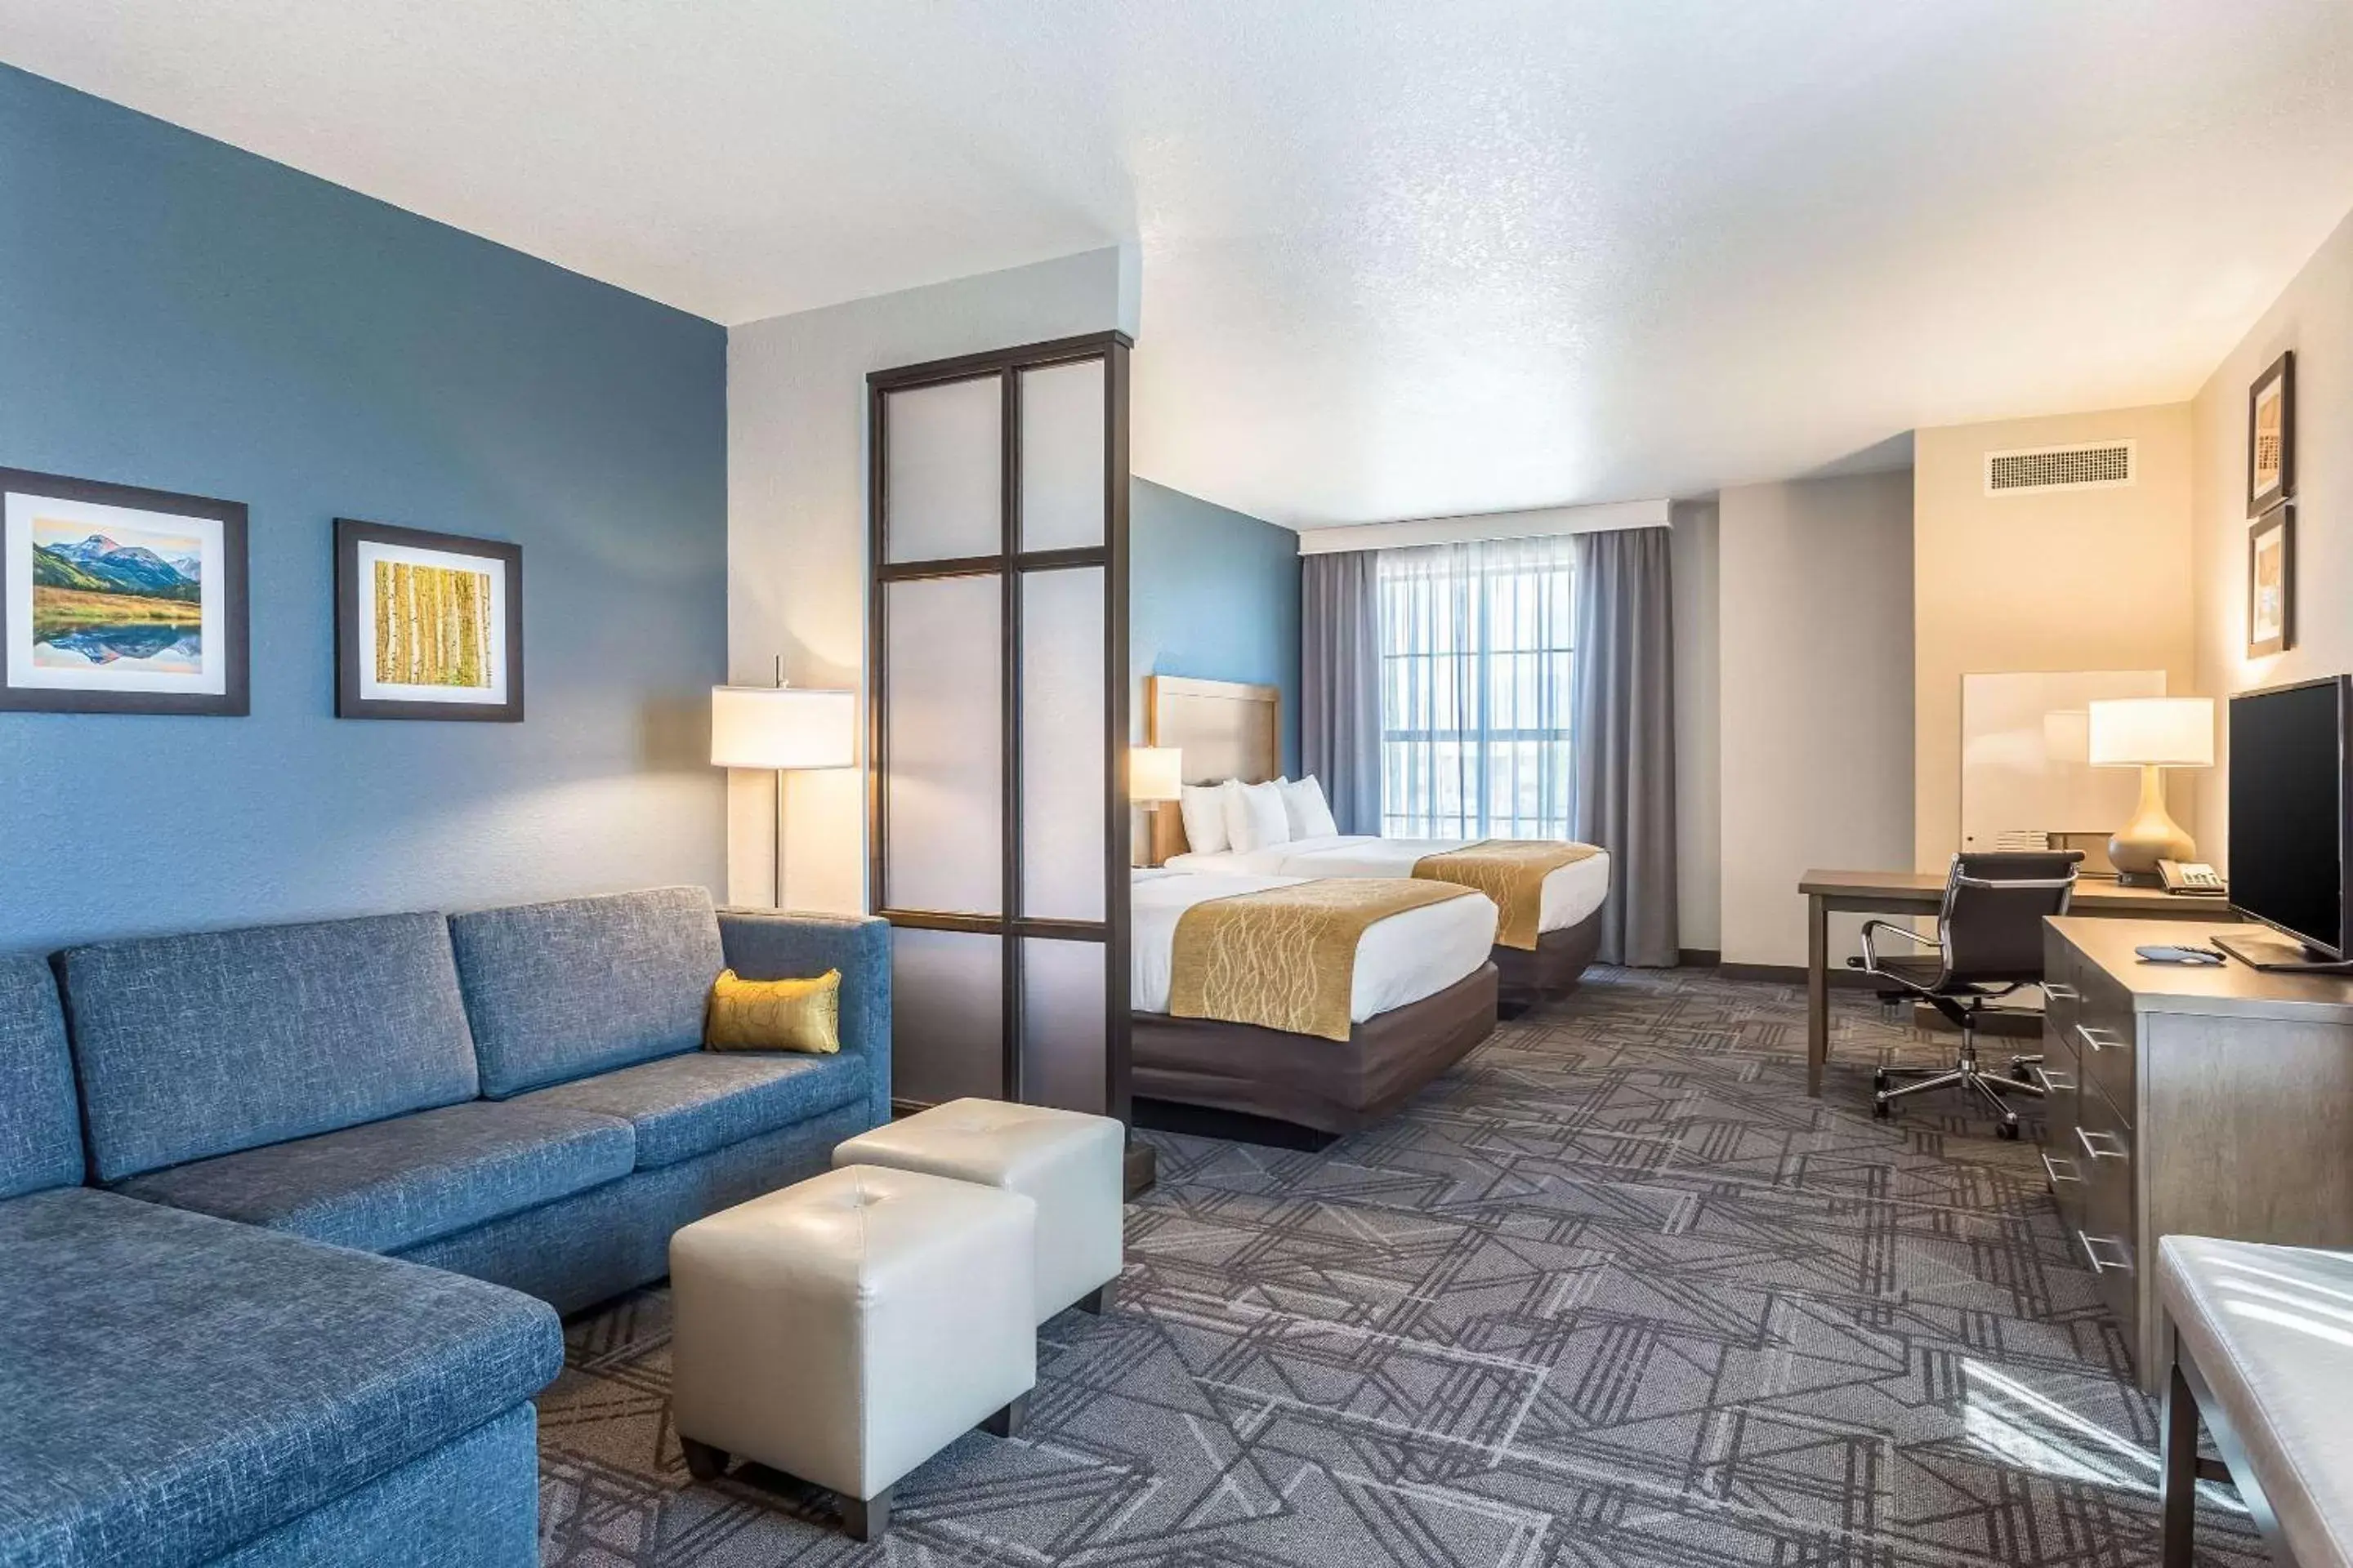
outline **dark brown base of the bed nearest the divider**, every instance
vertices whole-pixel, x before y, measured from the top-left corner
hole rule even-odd
[[[1344,1041],[1134,1013],[1134,1091],[1146,1100],[1353,1133],[1494,1034],[1497,987],[1494,964],[1480,964],[1442,992],[1367,1018]]]

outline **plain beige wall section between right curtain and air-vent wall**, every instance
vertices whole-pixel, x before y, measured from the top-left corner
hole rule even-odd
[[[1911,470],[1722,491],[1727,964],[1805,964],[1807,867],[1911,856]],[[1833,943],[1852,950],[1854,924]]]

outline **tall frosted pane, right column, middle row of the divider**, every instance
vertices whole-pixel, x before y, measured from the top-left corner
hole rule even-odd
[[[1101,567],[1021,576],[1021,912],[1104,919]]]

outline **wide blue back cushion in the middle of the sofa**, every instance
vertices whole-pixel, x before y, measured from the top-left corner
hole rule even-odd
[[[101,943],[59,966],[99,1180],[475,1095],[440,914]]]

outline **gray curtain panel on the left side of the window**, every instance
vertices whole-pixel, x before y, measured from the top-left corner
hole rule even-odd
[[[1381,832],[1381,567],[1372,550],[1299,562],[1299,766],[1341,832]]]

